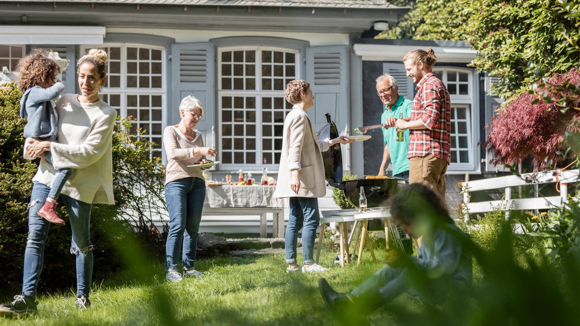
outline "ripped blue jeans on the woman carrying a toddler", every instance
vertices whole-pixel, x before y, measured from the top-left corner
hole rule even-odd
[[[24,276],[22,293],[36,296],[38,279],[44,259],[44,245],[50,222],[38,216],[38,210],[44,205],[50,188],[45,184],[34,182],[28,205],[28,239],[24,251]],[[77,256],[77,295],[89,296],[90,280],[93,275],[93,245],[90,242],[90,210],[92,204],[75,200],[60,194],[60,200],[67,208],[73,240],[71,253]],[[64,258],[63,258],[64,259]]]

